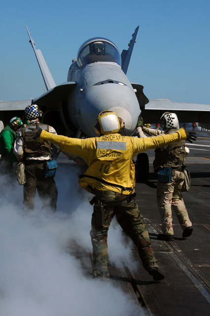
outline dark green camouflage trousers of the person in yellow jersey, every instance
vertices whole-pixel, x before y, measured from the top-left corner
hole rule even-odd
[[[107,200],[117,200],[119,196],[123,196],[112,191],[101,191],[101,193],[103,193],[104,198]],[[119,225],[137,246],[143,267],[146,270],[149,267],[158,267],[157,259],[154,257],[151,247],[146,223],[140,214],[135,198],[128,197],[120,205],[105,210],[103,226],[96,225],[95,210],[92,214],[90,236],[93,245],[93,276],[109,277],[107,268],[107,232],[114,215],[116,215]]]

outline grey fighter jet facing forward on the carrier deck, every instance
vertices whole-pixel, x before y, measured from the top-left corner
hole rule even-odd
[[[139,26],[128,49],[121,54],[111,40],[101,37],[86,40],[78,49],[76,60],[72,60],[67,82],[56,85],[27,28],[46,92],[31,100],[0,101],[1,119],[8,121],[27,105],[37,104],[43,112],[43,122],[54,126],[59,134],[71,137],[96,136],[96,118],[104,110],[114,111],[123,118],[125,135],[134,134],[140,113],[150,123],[157,122],[164,111],[179,111],[179,121],[183,122],[209,122],[209,105],[174,103],[166,99],[149,101],[143,86],[129,81],[126,73],[138,30]]]

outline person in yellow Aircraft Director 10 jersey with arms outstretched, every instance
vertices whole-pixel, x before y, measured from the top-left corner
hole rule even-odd
[[[182,139],[192,139],[189,132],[181,128],[169,135],[147,137],[122,136],[119,131],[123,121],[112,111],[103,111],[97,118],[95,131],[98,137],[86,139],[53,135],[39,126],[33,137],[57,144],[62,150],[70,151],[83,158],[88,168],[79,176],[80,186],[95,195],[92,202],[94,211],[91,222],[91,240],[93,245],[93,276],[109,278],[107,263],[107,231],[111,220],[116,219],[123,230],[132,238],[138,248],[144,268],[154,280],[164,275],[158,268],[157,259],[151,247],[138,205],[135,200],[135,165],[132,158],[147,149],[166,146]],[[195,138],[193,138],[195,140]]]

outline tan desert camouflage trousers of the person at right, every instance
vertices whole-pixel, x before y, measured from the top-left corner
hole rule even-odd
[[[157,204],[164,235],[174,235],[172,208],[183,230],[188,226],[192,226],[181,195],[183,182],[184,173],[180,169],[174,169],[172,170],[172,182],[158,182],[157,184]]]

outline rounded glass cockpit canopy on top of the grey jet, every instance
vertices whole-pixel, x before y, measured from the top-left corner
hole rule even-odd
[[[121,56],[115,44],[104,38],[86,40],[79,48],[77,65],[82,67],[95,62],[112,62],[121,66]]]

